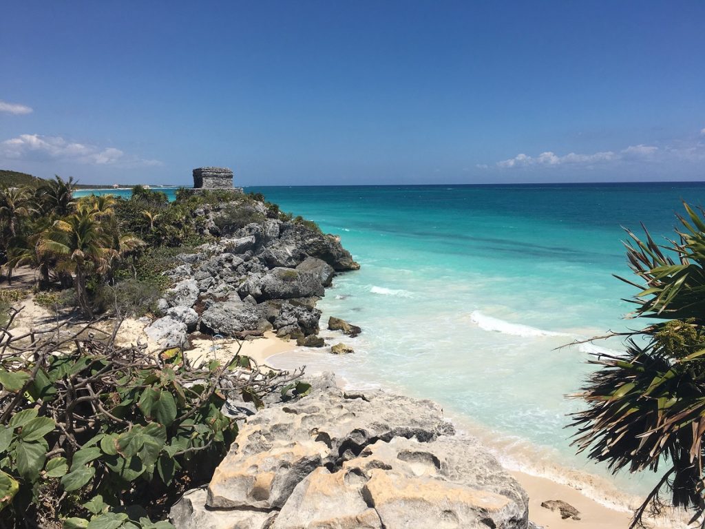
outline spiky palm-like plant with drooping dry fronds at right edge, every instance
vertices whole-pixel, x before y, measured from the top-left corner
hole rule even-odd
[[[620,279],[639,289],[635,317],[654,322],[623,334],[625,353],[597,355],[600,369],[578,395],[589,407],[573,418],[576,443],[590,458],[614,472],[661,471],[632,527],[661,511],[663,494],[705,527],[705,212],[685,209],[666,245],[627,231],[637,277]]]

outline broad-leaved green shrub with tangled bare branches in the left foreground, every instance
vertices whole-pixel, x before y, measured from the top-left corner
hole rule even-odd
[[[117,346],[119,322],[107,335],[60,327],[31,336],[0,327],[6,529],[171,528],[154,520],[211,478],[235,438],[226,399],[260,408],[266,394],[310,389],[301,370],[261,372],[239,348],[225,363],[192,365],[178,348]]]

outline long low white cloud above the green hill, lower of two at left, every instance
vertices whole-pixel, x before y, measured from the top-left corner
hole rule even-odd
[[[115,147],[97,147],[85,143],[70,142],[61,136],[22,134],[0,142],[0,156],[7,159],[68,160],[80,164],[94,165],[161,165],[158,160],[146,160],[130,156]]]

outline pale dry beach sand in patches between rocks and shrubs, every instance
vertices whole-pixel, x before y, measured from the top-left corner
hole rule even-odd
[[[31,298],[20,301],[18,305],[23,306],[23,310],[13,324],[12,330],[15,336],[29,332],[30,329],[47,328],[57,321],[56,315],[52,315],[49,310],[34,303]],[[148,322],[149,320],[144,318],[125,320],[118,334],[118,343],[128,345],[138,341],[146,342],[150,350],[157,349],[156,344],[151,343],[144,332]],[[109,322],[104,322],[102,326],[106,332],[111,331]],[[67,328],[65,332],[71,332],[71,328]],[[286,353],[296,347],[294,342],[278,339],[271,332],[266,333],[264,338],[250,341],[238,342],[229,339],[213,341],[196,338],[192,343],[193,348],[186,354],[193,363],[211,358],[222,360],[232,358],[240,347],[241,355],[250,356],[259,365],[266,365],[266,360],[271,355]],[[609,509],[575,488],[521,472],[512,472],[512,474],[529,493],[529,518],[545,529],[626,529],[629,525],[631,513]],[[560,518],[560,513],[541,507],[541,501],[548,499],[561,499],[575,506],[580,511],[580,521],[571,518],[563,520]],[[656,528],[685,527],[685,525],[670,523],[656,523],[653,526]]]

